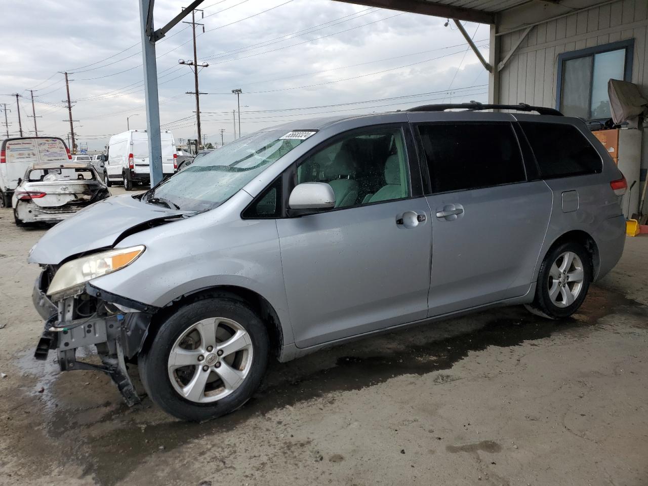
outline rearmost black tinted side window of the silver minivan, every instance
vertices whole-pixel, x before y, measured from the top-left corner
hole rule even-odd
[[[540,176],[551,179],[603,170],[601,156],[578,128],[562,123],[520,122],[535,153]]]

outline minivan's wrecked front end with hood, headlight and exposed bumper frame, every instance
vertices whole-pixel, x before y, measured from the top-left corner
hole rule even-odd
[[[178,220],[182,214],[126,196],[76,214],[74,226],[65,220],[52,228],[28,259],[42,269],[32,292],[34,307],[44,320],[34,357],[45,360],[54,352],[62,371],[102,371],[128,405],[139,402],[126,363],[135,362],[159,308],[106,292],[93,280],[130,266],[145,253],[143,244],[115,248],[125,237]],[[117,221],[119,226],[111,226]],[[89,356],[92,346],[97,356]]]

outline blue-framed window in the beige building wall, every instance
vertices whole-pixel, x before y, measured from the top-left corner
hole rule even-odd
[[[634,40],[613,42],[558,56],[556,108],[585,120],[607,120],[610,79],[630,81]]]

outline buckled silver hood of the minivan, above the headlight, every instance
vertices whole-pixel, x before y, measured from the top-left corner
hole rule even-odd
[[[30,249],[27,261],[57,265],[73,255],[112,248],[133,232],[171,222],[183,214],[195,213],[143,203],[130,194],[113,196],[52,227]]]

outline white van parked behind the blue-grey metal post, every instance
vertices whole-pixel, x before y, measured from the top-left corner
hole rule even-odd
[[[162,172],[172,176],[178,165],[176,163],[176,141],[173,133],[160,132],[162,139]],[[104,167],[104,179],[110,187],[122,183],[126,191],[132,191],[133,183],[149,184],[148,167],[148,133],[146,130],[128,130],[110,137],[108,143],[108,161]]]

